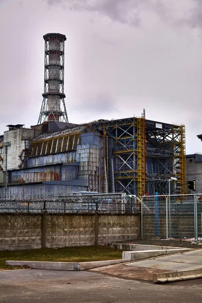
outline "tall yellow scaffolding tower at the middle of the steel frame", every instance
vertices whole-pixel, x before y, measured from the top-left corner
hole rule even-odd
[[[137,118],[137,191],[145,192],[145,119]]]

